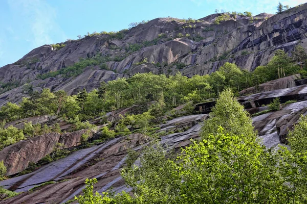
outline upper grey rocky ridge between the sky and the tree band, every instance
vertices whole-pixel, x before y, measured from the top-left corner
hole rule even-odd
[[[27,96],[25,83],[34,90],[62,89],[72,94],[137,72],[174,74],[179,70],[190,77],[211,73],[225,62],[253,70],[267,64],[275,49],[283,48],[290,54],[297,44],[307,46],[307,4],[277,15],[229,14],[227,20],[217,23],[223,15],[199,20],[157,18],[127,31],[91,34],[35,48],[17,62],[0,68],[0,105]],[[103,62],[89,63],[73,76],[46,75],[61,73],[59,70],[63,72],[80,58],[97,56]]]

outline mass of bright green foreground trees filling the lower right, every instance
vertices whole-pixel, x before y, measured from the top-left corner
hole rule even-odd
[[[84,195],[76,200],[82,203],[91,203],[86,200],[97,203],[304,203],[307,152],[282,146],[277,150],[266,149],[255,137],[250,118],[233,100],[230,90],[221,94],[212,118],[221,115],[217,110],[225,101],[232,105],[223,107],[224,110],[230,115],[241,112],[244,117],[240,119],[247,124],[247,129],[242,129],[240,123],[232,123],[232,128],[225,129],[215,124],[217,131],[203,132],[205,137],[183,148],[177,159],[172,151],[153,143],[143,151],[140,166],[121,171],[133,195],[125,192],[93,195],[93,184],[97,181],[94,179],[86,180]],[[228,124],[232,119],[225,118],[223,122]],[[302,118],[293,132],[295,137],[305,134],[305,124]],[[241,130],[235,133],[233,129]]]

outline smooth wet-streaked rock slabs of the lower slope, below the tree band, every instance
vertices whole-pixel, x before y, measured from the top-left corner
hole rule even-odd
[[[307,85],[293,85],[290,88],[242,96],[238,98],[238,101],[246,107],[248,112],[254,114],[268,110],[267,105],[270,101],[276,97],[280,98],[283,105],[279,111],[252,118],[259,138],[270,148],[286,142],[285,137],[288,133],[288,128],[292,128],[293,123],[298,120],[300,114],[307,114],[306,96]],[[297,99],[297,101],[294,99]],[[291,104],[286,103],[289,100],[292,100]],[[201,123],[209,115],[209,111],[203,108],[212,107],[213,105],[211,102],[198,104],[195,106],[195,113],[197,114],[176,117],[157,125],[157,133],[161,133],[161,143],[178,150],[180,147],[189,145],[190,139],[199,138]],[[176,110],[180,111],[181,108],[178,107]],[[27,120],[32,120],[32,118]],[[54,119],[50,118],[49,122],[52,120]],[[46,121],[41,120],[41,122]],[[18,124],[16,123],[15,125]],[[84,132],[84,130],[82,131]],[[134,133],[88,148],[82,148],[82,145],[80,145],[82,131],[69,134],[63,133],[60,136],[56,133],[41,135],[20,141],[0,151],[0,159],[4,159],[5,164],[8,166],[8,174],[14,174],[24,170],[29,161],[35,162],[48,155],[50,152],[41,151],[41,147],[45,147],[49,143],[53,144],[55,140],[62,138],[62,142],[64,141],[69,146],[77,147],[77,151],[68,157],[42,165],[37,170],[25,175],[12,177],[0,182],[0,186],[6,189],[23,192],[13,198],[4,199],[0,203],[65,203],[82,192],[81,190],[85,187],[83,182],[86,178],[94,177],[98,179],[95,191],[101,193],[112,187],[115,192],[121,192],[122,190],[129,192],[131,189],[124,184],[119,174],[120,169],[126,165],[129,149],[141,151],[144,145],[150,141],[150,137],[141,133]],[[92,135],[94,133],[92,132]],[[33,157],[33,155],[36,155],[36,157]],[[136,164],[137,162],[138,160]],[[12,168],[13,166],[14,168]],[[51,183],[35,190],[31,189],[41,184],[46,184],[46,182]]]

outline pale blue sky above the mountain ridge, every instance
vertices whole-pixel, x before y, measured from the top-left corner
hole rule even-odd
[[[280,1],[291,7],[303,0]],[[225,11],[275,13],[278,0],[0,0],[0,67],[35,47],[94,31],[119,31],[157,17],[202,18]]]

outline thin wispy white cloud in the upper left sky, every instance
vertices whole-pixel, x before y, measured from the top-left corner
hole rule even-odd
[[[46,1],[41,0],[8,0],[14,16],[20,18],[20,27],[27,33],[24,40],[37,47],[53,42],[52,36],[61,36],[63,31],[56,23],[56,10]]]

